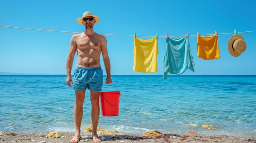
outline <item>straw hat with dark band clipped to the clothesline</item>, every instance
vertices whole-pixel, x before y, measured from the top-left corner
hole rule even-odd
[[[229,39],[227,44],[230,55],[238,57],[246,50],[244,38],[240,35],[234,35]]]

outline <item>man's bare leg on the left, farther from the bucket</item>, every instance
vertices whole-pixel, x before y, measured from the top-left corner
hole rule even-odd
[[[70,140],[71,143],[77,143],[81,138],[81,122],[83,118],[83,101],[85,99],[85,90],[77,91],[75,90],[76,101],[74,106],[74,120],[76,126],[76,134]]]

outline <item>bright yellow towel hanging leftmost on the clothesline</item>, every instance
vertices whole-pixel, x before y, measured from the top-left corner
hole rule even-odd
[[[133,71],[142,73],[157,72],[157,39],[157,37],[154,37],[150,40],[140,40],[137,37],[133,37]]]

